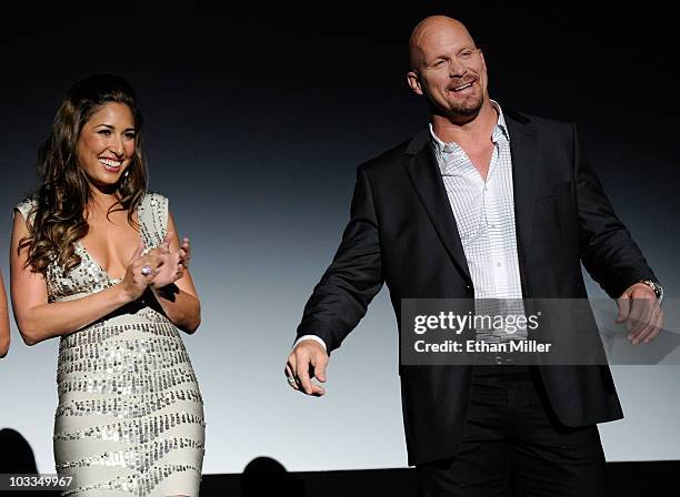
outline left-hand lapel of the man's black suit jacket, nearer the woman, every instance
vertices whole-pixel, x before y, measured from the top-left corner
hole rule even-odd
[[[416,192],[424,205],[434,230],[453,263],[463,276],[472,282],[468,262],[458,234],[456,217],[441,180],[441,173],[431,146],[429,146],[429,130],[426,129],[413,138],[406,151],[406,170],[411,178]]]

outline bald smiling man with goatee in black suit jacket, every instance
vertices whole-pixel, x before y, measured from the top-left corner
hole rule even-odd
[[[629,339],[659,333],[661,288],[579,149],[573,125],[501,110],[466,27],[420,22],[408,83],[428,129],[362,164],[351,219],[288,358],[324,389],[340,346],[387,283],[402,298],[586,298],[581,262],[618,298]],[[554,254],[559,254],[556,257]],[[622,417],[607,366],[401,366],[409,464],[423,496],[600,495],[597,423]]]

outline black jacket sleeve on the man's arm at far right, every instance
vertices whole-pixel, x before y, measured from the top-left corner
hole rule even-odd
[[[583,266],[612,298],[641,280],[657,280],[638,244],[621,223],[579,145],[576,126],[576,191],[579,210],[579,245]]]

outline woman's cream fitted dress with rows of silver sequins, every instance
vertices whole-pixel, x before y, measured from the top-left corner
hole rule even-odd
[[[32,200],[17,209],[29,219]],[[148,192],[138,206],[147,247],[158,246],[168,200]],[[30,221],[30,219],[29,219]],[[120,283],[76,243],[80,265],[47,271],[50,302],[71,301]],[[73,476],[64,496],[198,496],[203,462],[203,404],[179,329],[137,301],[59,344],[57,471]]]

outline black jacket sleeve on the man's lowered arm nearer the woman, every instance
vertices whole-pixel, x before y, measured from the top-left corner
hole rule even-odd
[[[357,171],[350,221],[321,281],[304,306],[298,337],[317,335],[338,348],[383,283],[378,220],[368,175]]]

